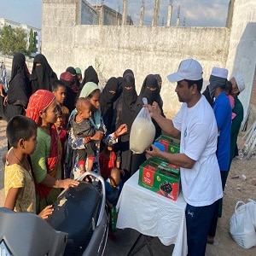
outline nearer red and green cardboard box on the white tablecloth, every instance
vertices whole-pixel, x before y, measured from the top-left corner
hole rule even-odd
[[[165,160],[149,158],[140,166],[138,184],[176,201],[180,192],[179,168]]]

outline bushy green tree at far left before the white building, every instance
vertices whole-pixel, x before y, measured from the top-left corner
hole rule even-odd
[[[15,55],[16,52],[27,55],[26,32],[21,28],[3,26],[0,30],[0,52],[3,55]]]

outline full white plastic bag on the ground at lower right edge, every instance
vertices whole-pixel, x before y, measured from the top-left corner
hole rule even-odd
[[[238,201],[235,212],[230,218],[230,235],[246,249],[256,245],[256,232],[252,218],[248,205],[243,201]]]

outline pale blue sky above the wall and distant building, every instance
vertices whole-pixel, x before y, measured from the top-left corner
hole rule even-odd
[[[87,0],[122,12],[123,0]],[[140,9],[144,3],[144,25],[150,26],[154,14],[154,0],[127,0],[127,14],[139,24]],[[172,22],[175,26],[178,9],[180,26],[225,26],[230,0],[160,0],[159,25],[166,25],[168,5],[172,3]],[[43,0],[0,0],[0,18],[14,20],[41,28]]]

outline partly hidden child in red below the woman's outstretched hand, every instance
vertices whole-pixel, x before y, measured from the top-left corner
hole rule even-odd
[[[104,179],[108,179],[112,168],[120,167],[120,157],[117,158],[115,152],[113,151],[113,145],[108,145],[107,143],[102,143],[103,150],[100,153],[100,168],[101,175]]]

